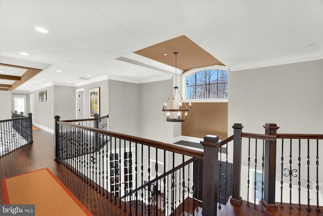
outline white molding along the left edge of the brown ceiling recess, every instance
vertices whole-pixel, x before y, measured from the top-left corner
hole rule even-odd
[[[128,62],[131,64],[139,65],[142,67],[150,68],[167,74],[175,74],[175,67],[157,62],[144,56],[135,53],[130,53],[125,56],[117,58],[117,60]],[[183,70],[177,68],[177,73],[182,74]]]

